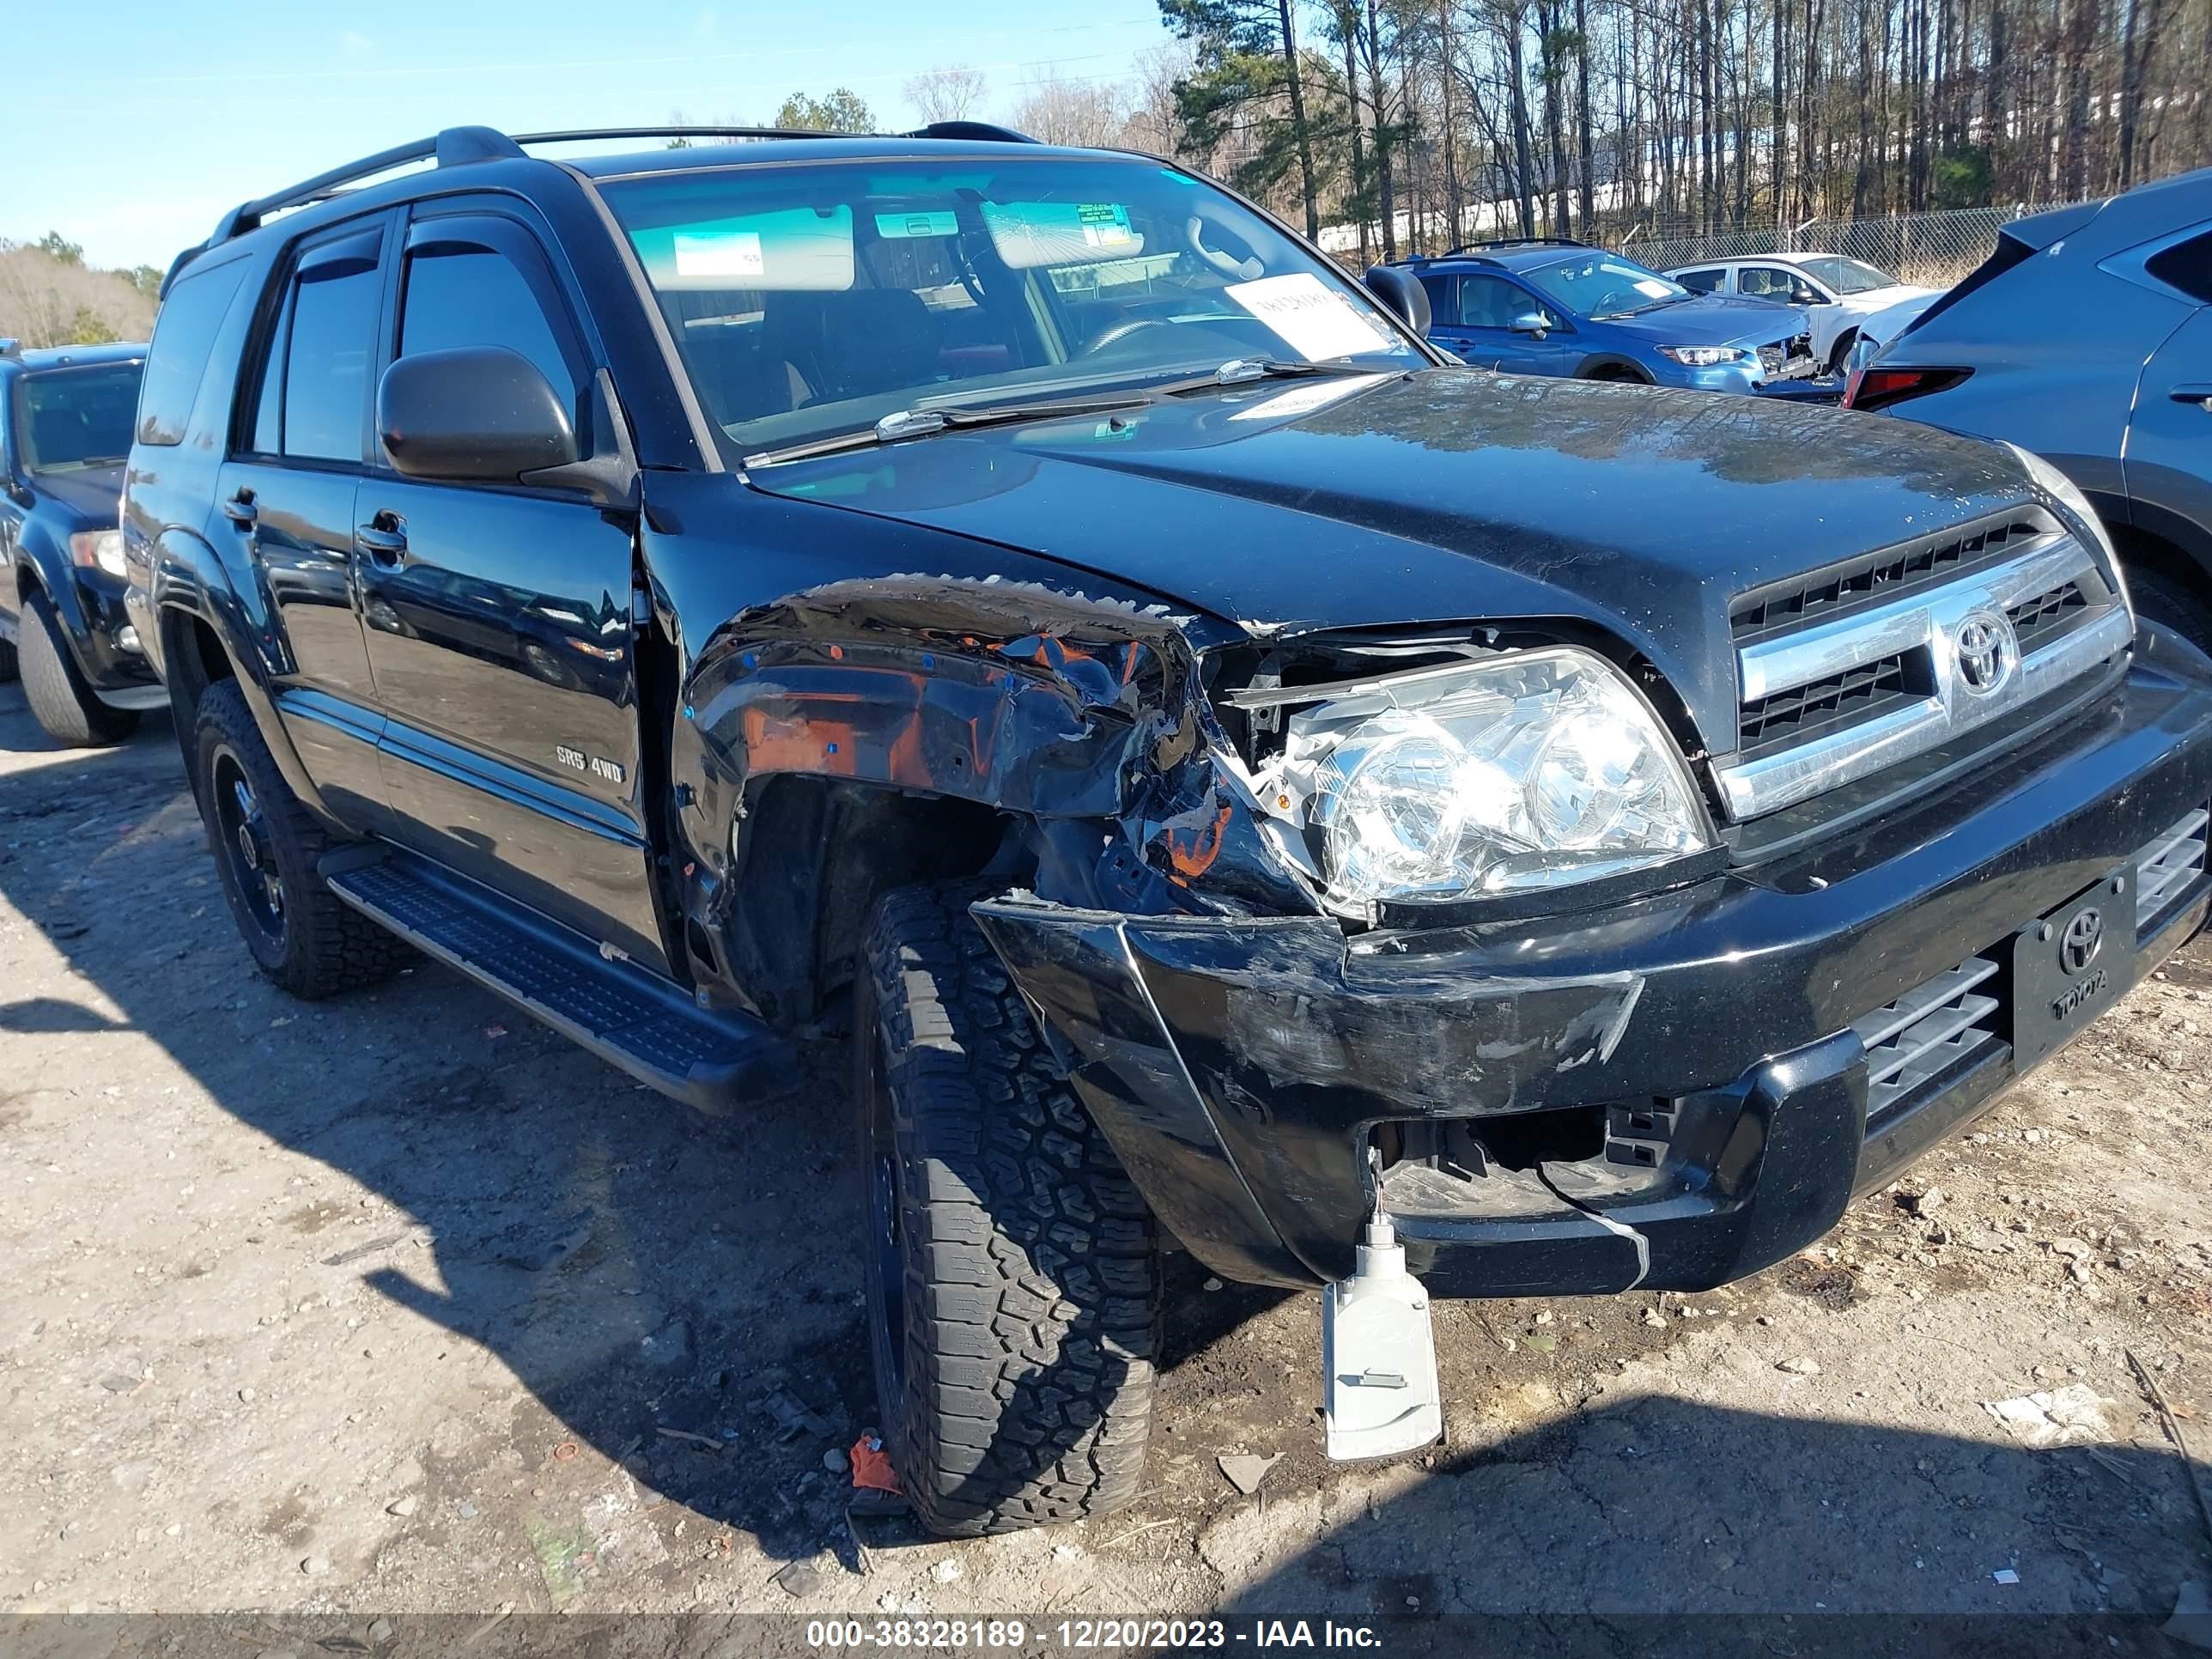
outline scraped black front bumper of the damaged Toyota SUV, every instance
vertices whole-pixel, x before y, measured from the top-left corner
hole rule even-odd
[[[1703,1290],[1818,1239],[1986,1108],[2024,1068],[2015,1035],[2044,1046],[2013,1029],[2033,1015],[2015,991],[2039,995],[2013,984],[2022,929],[2124,883],[2097,1006],[2190,938],[2212,896],[2194,841],[2150,872],[2141,925],[2135,887],[2208,801],[2212,664],[2146,635],[2121,688],[2026,757],[1838,845],[1610,909],[1356,938],[1318,916],[1024,898],[975,916],[1214,1272],[1340,1279],[1380,1197],[1442,1296]],[[1893,1031],[1889,1011],[1969,964],[1989,971]],[[1442,1126],[1546,1113],[1601,1124],[1601,1150],[1473,1179],[1433,1157],[1376,1170]]]

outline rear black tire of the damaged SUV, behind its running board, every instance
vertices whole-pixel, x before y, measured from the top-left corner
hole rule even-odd
[[[283,922],[276,936],[257,918],[232,865],[232,849],[219,830],[215,799],[219,757],[234,757],[259,803],[268,856],[274,858],[283,894]],[[208,849],[215,854],[230,916],[268,978],[292,995],[314,1002],[376,984],[398,969],[407,947],[343,905],[316,874],[316,860],[336,843],[283,781],[234,679],[217,681],[199,699],[192,721],[192,794],[199,799],[199,816],[208,827]]]

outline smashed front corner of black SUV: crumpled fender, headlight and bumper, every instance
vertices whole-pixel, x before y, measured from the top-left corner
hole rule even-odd
[[[2033,765],[1752,863],[1732,734],[1566,626],[1294,637],[962,571],[741,611],[681,686],[701,984],[790,1018],[763,962],[865,914],[825,849],[865,896],[995,847],[975,918],[1159,1221],[1314,1287],[1383,1217],[1444,1296],[1699,1290],[1823,1234],[2013,1075],[1969,1031],[1869,1121],[1882,1015],[2161,845],[2212,765],[2205,688],[2139,659]],[[865,805],[794,834],[794,787]]]

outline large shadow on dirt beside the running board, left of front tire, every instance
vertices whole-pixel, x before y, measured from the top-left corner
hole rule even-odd
[[[20,692],[0,688],[0,750],[35,748]],[[237,940],[166,721],[7,776],[0,841],[0,894],[97,993],[22,987],[0,998],[0,1031],[137,1031],[217,1108],[394,1212],[365,1228],[312,1206],[241,1217],[212,1248],[274,1234],[312,1250],[285,1272],[316,1267],[341,1296],[365,1285],[482,1345],[557,1420],[493,1425],[531,1462],[575,1440],[770,1555],[830,1542],[856,1557],[849,1482],[823,1462],[876,1425],[841,1042],[703,1119],[422,958],[294,1002]],[[1168,1276],[1190,1314],[1168,1367],[1276,1301],[1201,1294],[1188,1259]],[[460,1453],[418,1460],[434,1484],[469,1475]],[[869,1542],[918,1537],[894,1522]]]

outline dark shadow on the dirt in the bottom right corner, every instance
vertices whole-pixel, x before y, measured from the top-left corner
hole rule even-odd
[[[2130,1409],[2119,1402],[2112,1418]],[[2115,1628],[2117,1648],[2099,1630],[2053,1650],[2168,1652],[2150,1630],[2177,1588],[2212,1568],[2190,1467],[2170,1449],[2031,1451],[1670,1394],[1593,1402],[1436,1469],[1250,1504],[1214,1522],[1201,1551],[1223,1573],[1230,1613],[1595,1613],[1608,1637],[1590,1650],[1606,1655],[1679,1655],[1686,1637],[1712,1652],[1710,1639],[1743,1635],[1646,1628],[1648,1615],[1686,1613],[1982,1624],[1905,1641],[1907,1630],[1867,1621],[1838,1652],[2039,1652],[2033,1630],[2006,1632],[1986,1615],[2135,1615],[2148,1619],[2135,1630],[2148,1646]],[[1745,1650],[1829,1650],[1805,1648],[1805,1635]],[[1951,1644],[1966,1635],[1978,1641]]]

